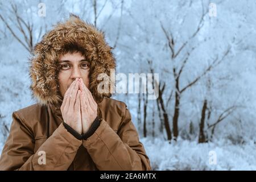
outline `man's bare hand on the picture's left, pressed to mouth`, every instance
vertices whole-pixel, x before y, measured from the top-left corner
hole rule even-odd
[[[79,90],[80,80],[76,78],[75,81],[69,86],[67,92],[64,95],[62,105],[60,107],[61,114],[65,123],[71,126],[77,133],[82,133],[81,122],[81,104]]]

